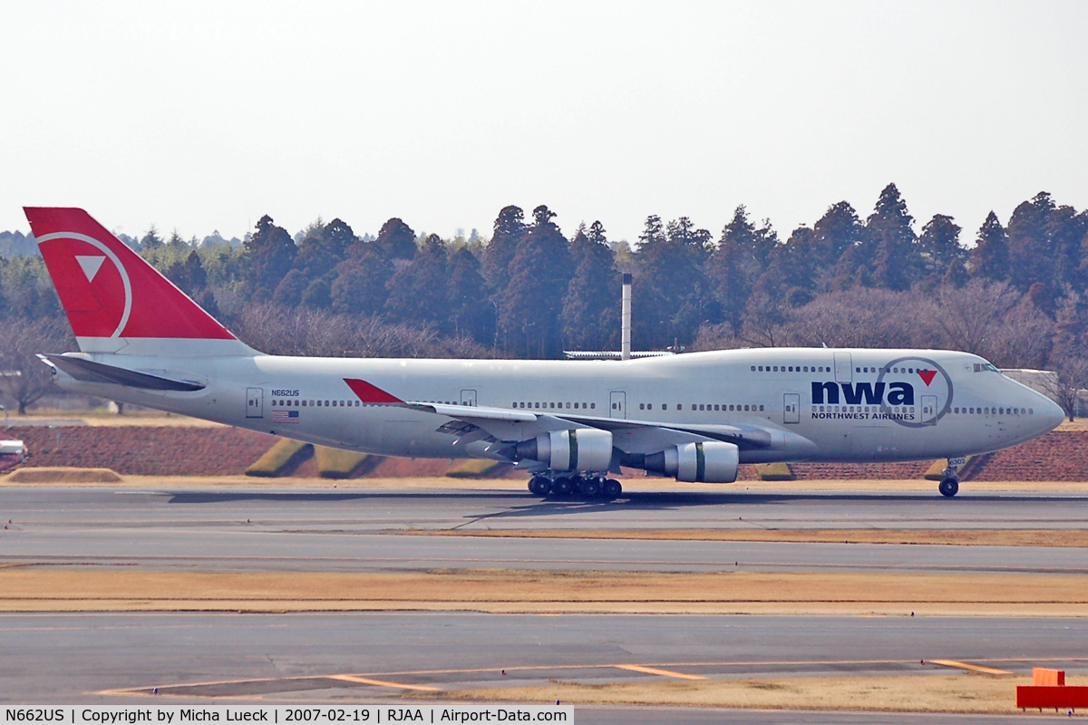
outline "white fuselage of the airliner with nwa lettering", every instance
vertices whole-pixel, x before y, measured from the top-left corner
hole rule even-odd
[[[207,387],[157,392],[60,374],[63,387],[382,455],[494,458],[482,441],[453,446],[438,430],[452,418],[367,404],[345,378],[406,401],[768,432],[769,445],[741,448],[742,463],[957,458],[1030,440],[1062,417],[981,358],[940,350],[761,348],[622,362],[87,358]]]

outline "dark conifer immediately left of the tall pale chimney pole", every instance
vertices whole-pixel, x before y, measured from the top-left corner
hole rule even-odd
[[[562,300],[562,335],[573,350],[609,350],[619,346],[621,285],[605,228],[594,222],[570,242],[574,276]]]

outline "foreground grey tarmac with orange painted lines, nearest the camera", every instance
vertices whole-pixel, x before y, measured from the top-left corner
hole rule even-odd
[[[976,617],[388,614],[0,616],[0,698],[126,703],[160,695],[314,702],[416,688],[604,684],[676,675],[925,674],[951,659],[1023,673],[1088,666],[1088,622]],[[503,671],[506,674],[502,674]],[[581,720],[581,718],[580,718]]]

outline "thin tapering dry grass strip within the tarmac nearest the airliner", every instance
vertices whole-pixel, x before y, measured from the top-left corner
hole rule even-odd
[[[763,528],[652,528],[652,529],[441,529],[404,532],[425,536],[479,536],[533,539],[639,539],[651,541],[786,541],[798,543],[936,543],[975,547],[1088,548],[1081,529],[763,529]]]

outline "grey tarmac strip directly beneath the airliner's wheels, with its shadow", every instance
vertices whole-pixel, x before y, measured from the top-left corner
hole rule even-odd
[[[789,492],[615,507],[478,491],[2,488],[0,564],[199,571],[434,568],[1088,574],[1084,549],[433,536],[443,529],[1080,527],[1088,497]],[[935,500],[936,499],[936,500]]]

